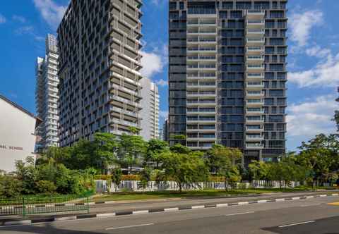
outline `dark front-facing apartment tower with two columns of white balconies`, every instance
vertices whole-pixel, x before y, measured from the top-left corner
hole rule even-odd
[[[285,154],[287,0],[169,1],[169,142]]]

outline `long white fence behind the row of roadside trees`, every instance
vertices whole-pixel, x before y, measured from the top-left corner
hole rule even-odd
[[[107,192],[107,181],[106,180],[95,180],[96,191],[97,192]],[[292,182],[286,187],[295,187],[299,183]],[[264,180],[254,180],[251,183],[237,183],[237,188],[278,188],[280,187],[279,181],[264,181]],[[285,183],[282,183],[282,187],[285,187]],[[228,188],[231,188],[230,186]],[[183,185],[183,190],[203,190],[203,189],[215,189],[215,190],[225,190],[225,183],[223,182],[199,182],[189,185]],[[150,191],[169,191],[169,190],[179,190],[179,186],[174,181],[165,181],[162,183],[155,183],[155,181],[150,181],[148,185],[143,188],[141,182],[138,180],[122,180],[119,186],[117,186],[117,192],[121,191],[135,191],[135,192],[150,192]],[[116,186],[114,183],[110,186],[109,192],[116,192]]]

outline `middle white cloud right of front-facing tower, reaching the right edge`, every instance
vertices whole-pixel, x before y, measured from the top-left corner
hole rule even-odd
[[[314,51],[309,51],[313,54]],[[328,51],[323,52],[325,56]],[[288,73],[288,80],[299,87],[335,87],[339,83],[339,54],[327,54],[327,58],[314,68],[299,72]]]

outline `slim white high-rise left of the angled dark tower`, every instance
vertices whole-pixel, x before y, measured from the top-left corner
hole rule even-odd
[[[37,58],[35,67],[37,79],[35,104],[37,117],[42,120],[42,124],[37,129],[37,134],[40,136],[38,152],[51,146],[59,146],[58,57],[57,38],[54,35],[47,35],[46,55],[44,58]]]

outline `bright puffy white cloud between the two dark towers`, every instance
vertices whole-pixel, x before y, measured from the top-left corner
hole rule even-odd
[[[141,55],[141,75],[152,78],[153,75],[162,73],[167,64],[167,46],[164,45],[161,49],[155,47],[151,52],[141,51]]]

